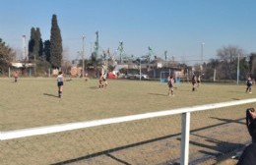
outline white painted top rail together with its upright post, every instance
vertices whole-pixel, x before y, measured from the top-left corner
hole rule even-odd
[[[5,132],[0,132],[0,140],[7,140],[7,139],[13,139],[13,138],[25,138],[25,137],[32,137],[32,136],[38,136],[38,135],[85,129],[85,128],[102,126],[102,125],[109,125],[114,123],[123,123],[123,122],[135,121],[135,120],[156,118],[161,116],[182,114],[180,163],[181,165],[188,165],[190,113],[196,112],[196,111],[216,109],[216,108],[224,108],[228,106],[242,105],[247,103],[256,103],[256,98],[228,101],[228,102],[222,102],[222,103],[213,103],[213,104],[206,104],[206,105],[199,105],[199,106],[192,106],[192,107],[185,107],[185,108],[177,108],[177,109],[165,110],[160,112],[150,112],[150,113],[144,113],[144,114],[138,114],[138,115],[108,118],[108,119],[101,119],[101,120],[95,120],[95,121],[89,121],[89,122],[77,122],[77,123],[52,125],[52,126],[37,127],[37,128],[30,128],[30,129],[5,131]]]

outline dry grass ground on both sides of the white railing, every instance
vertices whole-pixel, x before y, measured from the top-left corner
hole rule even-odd
[[[167,96],[166,83],[108,80],[106,89],[98,89],[97,80],[74,79],[64,83],[63,97],[58,98],[54,79],[13,82],[0,80],[1,131],[254,97],[254,93],[245,93],[245,85],[236,84],[203,83],[192,92],[191,83],[179,83],[174,89],[175,95]],[[248,141],[244,124],[248,106],[255,104],[193,113],[191,160],[218,155],[226,148],[229,152]],[[0,152],[3,160],[0,164],[167,164],[180,156],[180,122],[180,116],[175,115],[4,140],[0,142],[4,148]]]

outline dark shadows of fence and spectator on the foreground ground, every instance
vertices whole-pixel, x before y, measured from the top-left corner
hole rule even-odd
[[[204,161],[212,159],[212,158],[220,160],[221,158],[223,158],[224,153],[228,154],[228,153],[232,152],[234,149],[242,148],[242,147],[245,146],[245,143],[231,143],[231,142],[222,141],[220,139],[204,137],[204,136],[200,136],[200,135],[196,134],[196,132],[199,132],[199,131],[209,130],[211,128],[222,127],[222,126],[230,124],[230,123],[236,123],[236,124],[244,125],[244,123],[241,122],[241,120],[244,120],[244,118],[235,119],[235,120],[216,118],[216,117],[210,117],[210,118],[220,120],[220,121],[222,121],[222,123],[215,124],[215,125],[212,125],[212,126],[203,127],[203,128],[199,128],[199,129],[194,129],[194,130],[191,130],[190,133],[193,136],[196,136],[198,138],[203,138],[204,140],[206,140],[210,143],[213,143],[213,145],[212,144],[211,145],[210,144],[202,144],[201,142],[192,141],[192,140],[190,140],[190,144],[197,145],[197,146],[200,146],[200,147],[210,148],[211,150],[213,150],[213,152],[209,152],[209,151],[205,151],[205,150],[199,150],[198,152],[202,153],[204,156],[199,157],[199,158],[193,158],[191,156],[191,162],[193,162],[192,164],[197,164],[197,163],[200,163],[200,162],[204,162]],[[103,150],[103,151],[100,151],[100,152],[88,154],[88,155],[78,157],[78,158],[75,158],[75,159],[65,160],[65,161],[62,161],[62,162],[57,162],[57,163],[54,163],[52,165],[63,165],[63,164],[69,164],[69,163],[76,163],[76,162],[79,162],[79,161],[86,161],[86,160],[89,160],[91,158],[96,158],[98,156],[103,156],[103,155],[112,158],[113,160],[117,161],[118,163],[121,163],[121,164],[124,164],[124,165],[130,165],[129,162],[121,160],[120,158],[117,158],[117,157],[113,156],[111,153],[116,152],[116,151],[120,151],[120,150],[123,150],[123,149],[128,149],[128,148],[131,148],[131,147],[137,147],[137,146],[144,145],[144,144],[151,143],[151,142],[160,141],[160,140],[163,140],[163,139],[166,139],[166,138],[176,138],[177,140],[181,140],[180,134],[173,134],[173,135],[168,135],[168,136],[164,136],[164,137],[160,137],[160,138],[148,139],[148,140],[145,140],[145,141],[140,141],[140,142],[124,145],[124,146],[119,146],[119,147]],[[178,162],[179,160],[167,160],[167,161],[172,162],[172,164],[174,163],[175,165],[179,164],[179,162]]]

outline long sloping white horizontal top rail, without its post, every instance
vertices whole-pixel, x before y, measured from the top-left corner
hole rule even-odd
[[[176,114],[182,114],[186,112],[196,112],[196,111],[210,110],[210,109],[216,109],[216,108],[224,108],[228,106],[242,105],[242,104],[253,103],[253,102],[256,102],[256,98],[228,101],[228,102],[222,102],[222,103],[213,103],[213,104],[206,104],[206,105],[199,105],[199,106],[191,106],[191,107],[177,108],[172,110],[165,110],[160,112],[150,112],[150,113],[144,113],[144,114],[138,114],[138,115],[122,116],[122,117],[108,118],[108,119],[101,119],[101,120],[94,120],[94,121],[66,123],[66,124],[44,126],[44,127],[37,127],[37,128],[5,131],[5,132],[0,132],[0,140],[46,135],[46,134],[85,129],[85,128],[102,126],[102,125],[109,125],[114,123],[130,122],[135,120],[156,118],[161,116],[176,115]]]

